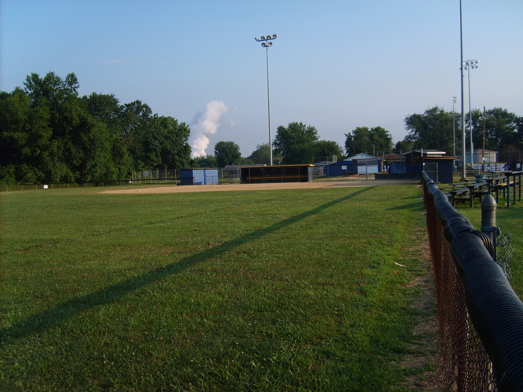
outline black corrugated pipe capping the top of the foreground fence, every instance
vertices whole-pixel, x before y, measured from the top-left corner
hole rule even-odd
[[[500,392],[523,391],[523,303],[493,258],[490,236],[475,230],[425,172],[454,262],[463,282],[472,325],[492,362]]]

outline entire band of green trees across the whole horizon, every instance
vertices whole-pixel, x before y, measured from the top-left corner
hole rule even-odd
[[[475,148],[523,149],[523,118],[503,108],[472,110],[465,131]],[[320,140],[317,129],[302,122],[278,126],[273,163],[310,164],[371,151],[440,149],[461,152],[461,115],[439,107],[404,120],[405,138],[392,144],[389,131],[359,126],[345,134],[345,151],[334,141]],[[220,141],[214,155],[190,158],[190,129],[173,117],[153,114],[139,100],[121,105],[114,95],[78,96],[74,73],[28,75],[24,88],[0,91],[0,181],[3,183],[82,182],[128,178],[131,171],[180,167],[268,165],[268,144],[247,157],[233,141]]]

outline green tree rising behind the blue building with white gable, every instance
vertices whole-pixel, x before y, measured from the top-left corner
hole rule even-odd
[[[345,136],[345,152],[348,156],[372,151],[389,151],[390,148],[390,133],[381,126],[358,126]]]

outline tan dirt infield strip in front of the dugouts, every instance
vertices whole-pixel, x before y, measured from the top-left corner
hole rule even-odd
[[[165,187],[141,187],[104,191],[101,193],[181,193],[181,192],[223,192],[251,191],[270,189],[306,189],[306,188],[344,188],[344,187],[376,187],[384,185],[419,184],[419,180],[345,180],[345,181],[313,181],[313,182],[272,182],[260,184],[226,184],[226,185],[184,185]]]

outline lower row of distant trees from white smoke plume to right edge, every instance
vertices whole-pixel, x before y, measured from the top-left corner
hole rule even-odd
[[[520,151],[523,149],[523,118],[503,108],[472,110],[465,115],[465,134],[469,146],[472,118],[472,139],[475,149],[491,151]],[[345,134],[345,151],[337,142],[320,140],[316,128],[301,122],[278,126],[274,140],[273,162],[283,165],[314,163],[317,157],[338,159],[370,152],[407,152],[412,149],[438,149],[449,156],[461,153],[461,114],[447,112],[439,107],[414,113],[404,119],[407,135],[401,141],[392,142],[392,135],[382,126],[369,128],[358,126]],[[225,145],[228,144],[228,145]],[[454,146],[455,144],[455,146]],[[227,153],[224,154],[224,151]],[[247,158],[241,157],[240,147],[234,142],[219,142],[215,156],[197,158],[202,166],[269,164],[269,145],[258,145]],[[317,159],[316,159],[317,160]]]

